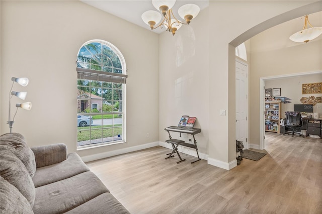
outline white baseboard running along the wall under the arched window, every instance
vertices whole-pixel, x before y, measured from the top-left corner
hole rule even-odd
[[[113,150],[113,151],[109,151],[109,152],[103,152],[103,153],[99,153],[99,154],[83,156],[81,158],[86,163],[89,161],[112,157],[115,155],[121,155],[121,154],[129,153],[129,152],[135,152],[138,150],[147,149],[147,148],[151,148],[151,147],[158,146],[158,145],[159,145],[159,142],[152,142],[152,143],[142,144],[142,145],[138,145],[138,146],[127,147],[124,149],[117,149],[117,150]]]

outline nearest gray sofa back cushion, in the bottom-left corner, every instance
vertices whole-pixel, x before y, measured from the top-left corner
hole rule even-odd
[[[34,213],[28,200],[18,189],[0,177],[0,213]]]

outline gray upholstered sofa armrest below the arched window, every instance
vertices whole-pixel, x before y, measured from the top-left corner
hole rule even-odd
[[[31,147],[31,150],[35,154],[37,168],[59,163],[67,158],[67,146],[62,143]]]

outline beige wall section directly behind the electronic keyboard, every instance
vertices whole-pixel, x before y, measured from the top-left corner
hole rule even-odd
[[[195,128],[201,133],[195,137],[204,154],[208,154],[209,126],[209,28],[203,24],[207,18],[206,8],[175,36],[165,32],[159,39],[159,139],[169,138],[164,128],[177,126],[182,115],[197,117]],[[191,137],[171,134],[185,141]]]

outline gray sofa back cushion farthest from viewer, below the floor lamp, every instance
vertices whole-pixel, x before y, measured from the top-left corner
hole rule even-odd
[[[8,146],[10,151],[14,153],[26,166],[31,177],[36,171],[36,162],[34,153],[28,147],[24,136],[19,133],[7,133],[0,137],[1,145]]]

